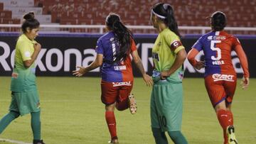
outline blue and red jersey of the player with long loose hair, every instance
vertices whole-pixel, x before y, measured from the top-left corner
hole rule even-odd
[[[103,55],[103,64],[101,67],[102,80],[105,82],[128,82],[133,81],[132,74],[132,59],[130,55],[126,60],[113,63],[116,55],[119,52],[119,43],[115,40],[115,35],[112,31],[102,35],[97,40],[96,52]],[[134,40],[132,40],[130,52],[137,50]]]

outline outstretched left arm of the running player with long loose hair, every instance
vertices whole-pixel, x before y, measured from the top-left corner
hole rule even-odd
[[[97,67],[100,67],[102,65],[102,62],[103,62],[103,55],[97,54],[95,61],[93,61],[88,67],[78,66],[79,69],[74,70],[73,75],[75,75],[75,77],[81,77],[86,72],[90,72],[91,70],[95,70]]]

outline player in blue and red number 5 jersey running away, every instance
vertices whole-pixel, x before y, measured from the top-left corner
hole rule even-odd
[[[231,111],[237,76],[230,53],[235,50],[240,60],[244,72],[242,89],[249,86],[247,57],[238,38],[223,31],[226,26],[225,13],[215,11],[210,16],[210,25],[212,31],[201,36],[193,45],[188,52],[188,61],[198,70],[202,67],[206,68],[204,74],[206,90],[223,128],[224,144],[237,144]],[[195,59],[201,50],[205,55],[205,62]]]

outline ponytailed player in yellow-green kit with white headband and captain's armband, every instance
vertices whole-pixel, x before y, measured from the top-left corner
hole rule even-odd
[[[152,49],[154,71],[151,92],[151,130],[156,144],[168,144],[165,132],[176,144],[186,144],[181,133],[183,88],[182,65],[186,51],[170,4],[159,3],[151,9],[151,23],[159,31]]]

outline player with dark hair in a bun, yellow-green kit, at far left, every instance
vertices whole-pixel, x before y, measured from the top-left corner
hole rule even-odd
[[[18,116],[31,113],[33,144],[44,144],[41,140],[40,102],[36,87],[36,57],[41,45],[34,40],[40,23],[34,13],[26,13],[21,26],[23,34],[16,43],[14,72],[11,75],[11,104],[9,113],[0,120],[0,133]]]

